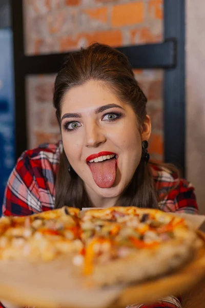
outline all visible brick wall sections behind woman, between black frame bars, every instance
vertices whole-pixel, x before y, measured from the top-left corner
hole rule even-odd
[[[25,0],[25,52],[69,51],[94,41],[111,46],[162,40],[162,0]],[[161,70],[136,70],[136,79],[148,97],[152,120],[149,150],[163,159]],[[60,138],[52,107],[54,75],[28,76],[27,113],[29,147]]]

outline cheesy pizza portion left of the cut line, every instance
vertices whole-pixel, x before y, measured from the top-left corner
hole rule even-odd
[[[79,210],[63,207],[27,217],[0,220],[0,259],[48,261],[59,255],[79,253]]]

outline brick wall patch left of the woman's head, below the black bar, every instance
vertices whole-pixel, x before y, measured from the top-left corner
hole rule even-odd
[[[55,75],[28,76],[27,129],[29,148],[60,139],[59,126],[52,106]]]

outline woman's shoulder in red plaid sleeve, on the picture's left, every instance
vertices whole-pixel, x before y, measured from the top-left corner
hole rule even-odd
[[[26,150],[8,179],[4,215],[31,215],[54,206],[61,142]]]

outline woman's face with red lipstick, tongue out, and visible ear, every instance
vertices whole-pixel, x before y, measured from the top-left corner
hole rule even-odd
[[[61,133],[66,156],[86,190],[117,197],[129,184],[150,136],[150,119],[139,128],[129,104],[99,81],[69,90],[63,99]]]

